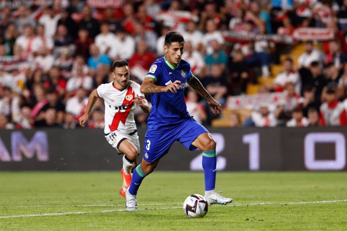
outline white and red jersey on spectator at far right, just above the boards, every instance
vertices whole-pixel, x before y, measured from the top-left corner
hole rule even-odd
[[[320,105],[319,124],[322,126],[340,126],[347,124],[346,111],[343,103],[334,100]]]

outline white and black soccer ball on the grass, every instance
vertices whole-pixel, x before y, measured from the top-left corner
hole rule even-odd
[[[193,194],[187,197],[183,204],[183,211],[187,216],[194,217],[203,217],[206,215],[208,210],[208,203],[200,194]]]

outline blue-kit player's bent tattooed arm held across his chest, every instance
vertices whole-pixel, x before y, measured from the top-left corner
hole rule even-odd
[[[152,94],[171,91],[172,93],[177,92],[177,89],[180,87],[181,81],[176,80],[173,83],[168,84],[167,86],[158,86],[155,85],[154,79],[146,77],[140,87],[141,93]]]

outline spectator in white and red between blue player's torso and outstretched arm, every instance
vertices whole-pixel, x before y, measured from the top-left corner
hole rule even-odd
[[[187,110],[189,114],[199,123],[205,123],[207,114],[204,105],[199,103],[199,96],[195,90],[189,90],[186,97]]]

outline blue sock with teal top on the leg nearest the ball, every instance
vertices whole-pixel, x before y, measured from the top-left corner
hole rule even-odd
[[[214,190],[216,186],[217,155],[216,149],[203,152],[203,169],[205,176],[205,191]]]

